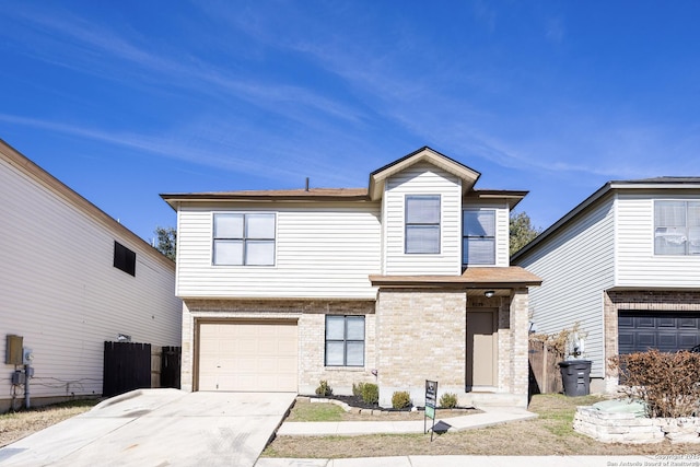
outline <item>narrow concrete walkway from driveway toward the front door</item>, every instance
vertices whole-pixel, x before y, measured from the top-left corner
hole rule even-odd
[[[516,408],[482,408],[483,413],[435,420],[435,432],[460,431],[492,427],[512,421],[537,418],[536,413]],[[429,427],[431,420],[428,420]],[[422,433],[423,421],[338,421],[338,422],[284,422],[277,430],[278,436],[353,436],[362,434]]]

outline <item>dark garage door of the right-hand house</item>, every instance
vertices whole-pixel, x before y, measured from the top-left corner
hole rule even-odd
[[[700,312],[695,314],[623,311],[618,315],[620,353],[690,350],[700,343]]]

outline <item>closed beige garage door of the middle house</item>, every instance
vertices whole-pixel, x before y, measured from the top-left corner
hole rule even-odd
[[[294,322],[201,323],[199,390],[298,389]]]

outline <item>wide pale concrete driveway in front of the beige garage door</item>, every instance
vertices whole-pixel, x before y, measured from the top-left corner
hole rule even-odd
[[[0,448],[0,466],[254,466],[295,396],[139,389]]]

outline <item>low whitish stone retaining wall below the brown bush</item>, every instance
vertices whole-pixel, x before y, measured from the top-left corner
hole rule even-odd
[[[696,417],[650,419],[579,407],[573,429],[603,443],[646,444],[700,443],[700,419]]]

